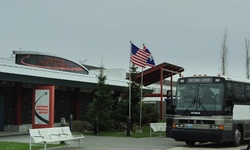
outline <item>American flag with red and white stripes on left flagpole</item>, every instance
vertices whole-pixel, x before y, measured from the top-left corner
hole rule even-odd
[[[133,64],[145,68],[150,55],[151,53],[148,53],[144,49],[140,49],[136,47],[133,43],[131,43],[130,61]]]

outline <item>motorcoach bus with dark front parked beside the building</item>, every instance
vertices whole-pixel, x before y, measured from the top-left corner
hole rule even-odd
[[[181,77],[166,136],[187,145],[250,139],[250,80],[222,76]]]

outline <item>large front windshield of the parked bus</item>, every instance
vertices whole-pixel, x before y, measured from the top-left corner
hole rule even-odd
[[[190,114],[199,111],[213,115],[222,111],[224,84],[178,84],[176,87],[175,111],[177,114]]]

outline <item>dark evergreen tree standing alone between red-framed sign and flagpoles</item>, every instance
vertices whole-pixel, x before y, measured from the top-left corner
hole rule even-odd
[[[86,113],[86,120],[94,123],[98,119],[99,131],[105,131],[113,127],[112,114],[112,95],[108,85],[105,83],[107,76],[104,75],[104,67],[101,66],[97,75],[98,84],[95,91],[93,102],[89,105]]]

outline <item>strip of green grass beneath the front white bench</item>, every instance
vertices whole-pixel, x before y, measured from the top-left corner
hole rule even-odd
[[[61,144],[48,144],[49,147],[62,146]],[[19,142],[0,142],[0,150],[28,150],[30,147],[29,143],[19,143]],[[44,145],[34,145],[32,150],[42,149]]]

